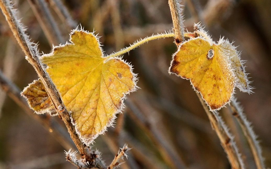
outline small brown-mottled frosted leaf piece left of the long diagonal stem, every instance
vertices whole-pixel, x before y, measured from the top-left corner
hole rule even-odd
[[[34,80],[21,92],[21,95],[26,98],[29,107],[37,114],[50,113],[57,115],[51,99],[44,88],[40,79]]]

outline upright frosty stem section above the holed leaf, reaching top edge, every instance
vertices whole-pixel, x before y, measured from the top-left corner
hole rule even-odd
[[[178,46],[185,41],[183,17],[181,16],[182,9],[180,8],[180,0],[169,0],[169,8],[171,12],[173,31],[175,34],[175,44]]]

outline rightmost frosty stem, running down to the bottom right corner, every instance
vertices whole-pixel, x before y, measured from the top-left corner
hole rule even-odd
[[[262,150],[259,141],[257,141],[257,137],[251,127],[251,123],[247,121],[246,115],[243,113],[242,108],[235,99],[231,101],[230,108],[233,116],[238,121],[245,137],[247,138],[247,142],[249,143],[249,146],[251,148],[257,168],[264,169],[265,166],[264,159],[262,157]]]

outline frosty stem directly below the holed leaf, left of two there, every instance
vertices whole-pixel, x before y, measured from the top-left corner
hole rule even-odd
[[[204,103],[199,93],[197,93],[197,96],[199,97],[199,100],[211,122],[213,130],[217,133],[225,153],[228,155],[231,167],[234,169],[244,168],[243,160],[241,155],[238,153],[238,148],[233,140],[233,136],[229,133],[224,121],[219,117],[217,112],[209,111],[209,108]]]

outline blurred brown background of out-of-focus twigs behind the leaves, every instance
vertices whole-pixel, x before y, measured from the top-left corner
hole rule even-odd
[[[65,43],[79,23],[99,33],[105,54],[118,51],[153,33],[172,29],[167,0],[19,0],[18,17],[27,33],[50,53],[52,44]],[[271,1],[183,0],[184,25],[193,31],[202,22],[214,41],[225,36],[242,51],[254,94],[236,89],[234,95],[259,136],[267,167],[271,166]],[[44,9],[46,9],[44,11]],[[44,24],[46,19],[49,24]],[[56,32],[56,33],[55,33]],[[150,41],[123,58],[138,74],[138,89],[125,100],[115,127],[93,145],[110,164],[119,147],[132,147],[121,168],[230,168],[220,141],[190,82],[168,74],[174,38]],[[0,69],[23,90],[37,74],[24,59],[4,16],[0,15]],[[235,136],[247,168],[256,168],[242,131],[231,111],[219,112]],[[33,111],[32,111],[33,113]],[[27,115],[0,89],[0,168],[76,168],[66,161],[61,142],[48,128]],[[46,115],[47,119],[50,119]],[[51,117],[64,126],[59,117]],[[66,128],[64,133],[67,134]],[[73,148],[73,150],[76,150]]]

